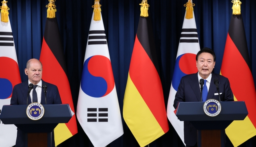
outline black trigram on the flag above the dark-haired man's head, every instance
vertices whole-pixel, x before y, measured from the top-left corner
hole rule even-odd
[[[180,43],[198,43],[198,35],[196,29],[182,29],[180,35]]]

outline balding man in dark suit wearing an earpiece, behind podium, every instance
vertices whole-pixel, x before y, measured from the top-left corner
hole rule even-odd
[[[42,80],[42,63],[37,59],[30,59],[26,64],[25,74],[28,75],[28,81],[14,86],[10,105],[29,105],[30,103],[61,104],[60,93],[56,85],[46,83]],[[28,86],[31,86],[27,99]],[[47,87],[47,100],[45,102],[43,86]],[[27,103],[28,101],[28,103]],[[24,111],[24,113],[26,113]],[[32,129],[32,128],[31,128]],[[36,129],[36,128],[33,128]],[[50,136],[52,136],[52,147],[55,147],[54,134],[47,134],[48,146],[50,145]],[[27,147],[28,135],[17,129],[16,147]]]

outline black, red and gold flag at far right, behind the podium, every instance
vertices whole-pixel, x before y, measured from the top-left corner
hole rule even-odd
[[[245,101],[249,113],[243,121],[234,121],[226,128],[230,141],[237,147],[256,135],[256,91],[242,15],[231,17],[220,74],[228,77],[234,100]]]

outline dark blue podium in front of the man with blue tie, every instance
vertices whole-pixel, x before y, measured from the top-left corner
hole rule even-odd
[[[190,121],[198,130],[198,147],[225,147],[224,129],[234,120],[248,115],[244,101],[221,101],[220,114],[210,117],[204,113],[204,102],[180,102],[176,116]]]

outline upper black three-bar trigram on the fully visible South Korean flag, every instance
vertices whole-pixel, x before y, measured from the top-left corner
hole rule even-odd
[[[104,30],[89,31],[88,45],[107,44],[107,38]]]

